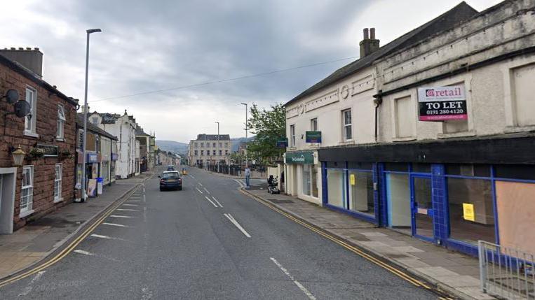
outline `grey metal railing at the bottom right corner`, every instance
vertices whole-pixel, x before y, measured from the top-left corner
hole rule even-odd
[[[504,299],[535,299],[535,255],[478,242],[481,290]]]

